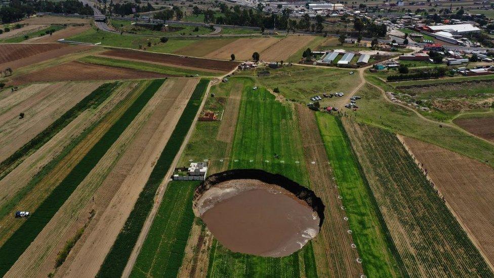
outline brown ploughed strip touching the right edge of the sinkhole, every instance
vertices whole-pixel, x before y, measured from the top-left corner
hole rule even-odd
[[[351,248],[352,236],[347,232],[350,228],[343,220],[346,215],[341,210],[342,203],[338,199],[339,193],[332,172],[328,171],[329,160],[316,118],[311,110],[301,105],[297,105],[297,116],[301,123],[299,127],[312,190],[326,206],[321,231],[312,240],[318,275],[358,277],[363,274],[362,265],[356,261],[356,249]]]

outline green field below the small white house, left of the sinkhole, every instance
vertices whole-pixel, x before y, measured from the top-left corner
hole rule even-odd
[[[172,181],[137,257],[131,277],[176,277],[194,220],[197,181]]]

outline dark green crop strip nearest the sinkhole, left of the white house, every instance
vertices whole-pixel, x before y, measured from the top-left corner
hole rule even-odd
[[[122,230],[113,243],[110,252],[100,267],[98,277],[120,276],[125,268],[132,250],[137,242],[142,226],[153,206],[154,196],[159,184],[165,178],[172,162],[182,145],[187,132],[199,109],[202,96],[208,87],[209,80],[203,79],[197,84],[192,96],[187,103],[180,119],[175,127],[167,145],[161,152],[144,189],[139,194],[134,209],[132,210]]]

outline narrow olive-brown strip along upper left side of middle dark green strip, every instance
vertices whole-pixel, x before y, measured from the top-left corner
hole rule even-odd
[[[144,88],[141,89],[141,91]],[[139,96],[138,90],[134,90],[121,103],[117,105],[110,113],[108,113],[102,122],[95,127],[86,138],[75,146],[57,166],[40,180],[31,191],[15,207],[15,210],[23,209],[34,212],[43,200],[51,193],[53,187],[59,184],[75,165],[86,155],[86,153],[98,142],[98,140],[108,131],[118,118],[132,105],[134,100]],[[0,220],[0,245],[2,245],[8,237],[22,224],[21,221],[16,221],[12,215],[6,216]]]

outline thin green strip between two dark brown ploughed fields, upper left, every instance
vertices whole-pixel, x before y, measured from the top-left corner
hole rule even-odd
[[[136,70],[143,71],[151,71],[158,72],[163,74],[169,74],[170,76],[215,76],[219,73],[200,71],[200,70],[192,70],[181,67],[171,67],[164,65],[151,64],[146,62],[137,62],[137,61],[129,61],[129,60],[120,60],[120,59],[112,59],[107,57],[97,57],[97,56],[86,56],[84,58],[79,59],[81,62],[97,64],[97,65],[105,65],[112,67],[123,67],[130,68]]]

